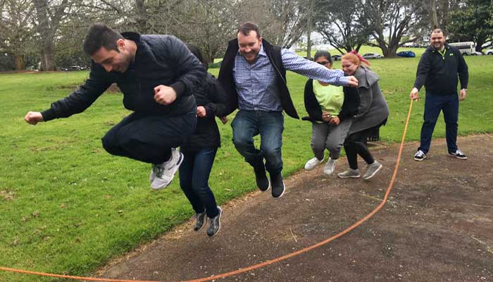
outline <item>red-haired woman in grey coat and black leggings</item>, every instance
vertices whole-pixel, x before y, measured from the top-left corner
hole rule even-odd
[[[380,91],[378,75],[368,66],[362,66],[361,62],[369,65],[356,51],[352,51],[342,56],[342,71],[347,75],[354,75],[358,79],[358,90],[360,105],[358,114],[354,118],[349,133],[344,141],[349,169],[338,173],[340,178],[359,178],[358,154],[366,161],[368,168],[363,175],[364,180],[368,180],[380,171],[382,164],[373,159],[366,140],[368,135],[375,129],[380,128],[387,122],[389,116],[389,106]]]

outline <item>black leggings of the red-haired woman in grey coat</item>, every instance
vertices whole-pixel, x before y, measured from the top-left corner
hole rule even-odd
[[[377,125],[377,127],[380,127],[380,125]],[[349,135],[344,141],[344,150],[346,151],[347,161],[351,169],[358,169],[358,154],[366,161],[366,164],[373,164],[375,161],[366,146],[368,135],[374,130],[375,128],[368,128],[358,131]]]

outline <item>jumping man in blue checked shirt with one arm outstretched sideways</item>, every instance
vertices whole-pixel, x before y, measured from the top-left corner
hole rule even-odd
[[[229,42],[221,63],[219,81],[227,92],[228,112],[239,109],[231,124],[233,143],[245,161],[254,167],[258,189],[267,191],[272,187],[273,197],[281,197],[285,192],[281,157],[282,110],[299,118],[287,89],[286,70],[331,85],[358,85],[356,78],[344,77],[340,70],[330,70],[269,44],[262,39],[254,23],[239,27],[237,39]],[[258,134],[260,149],[254,146],[253,137]]]

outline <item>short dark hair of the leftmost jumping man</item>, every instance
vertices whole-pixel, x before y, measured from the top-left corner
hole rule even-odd
[[[104,47],[107,50],[118,50],[116,42],[123,39],[120,33],[108,27],[104,23],[94,23],[89,27],[86,38],[84,39],[84,52],[92,56],[96,51]]]

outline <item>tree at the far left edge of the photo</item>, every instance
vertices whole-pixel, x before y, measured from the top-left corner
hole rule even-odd
[[[33,11],[29,0],[0,1],[0,51],[13,57],[17,71],[25,68],[26,56],[34,46],[30,42]]]

